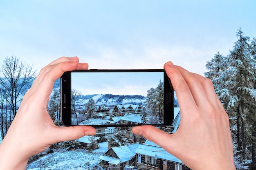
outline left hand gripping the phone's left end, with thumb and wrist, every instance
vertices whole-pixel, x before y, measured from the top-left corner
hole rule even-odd
[[[95,135],[90,126],[58,127],[47,112],[54,82],[65,71],[88,69],[77,57],[61,57],[42,68],[25,94],[13,122],[0,144],[0,169],[26,168],[28,159],[59,141]]]

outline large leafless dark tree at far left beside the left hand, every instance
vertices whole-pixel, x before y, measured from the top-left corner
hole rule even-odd
[[[10,113],[5,117],[5,130],[7,131],[13,118],[16,116],[17,104],[21,102],[22,95],[25,94],[29,85],[34,80],[35,71],[32,71],[32,66],[28,66],[17,57],[9,56],[3,61],[2,75],[0,86],[5,90],[5,100],[10,107]]]

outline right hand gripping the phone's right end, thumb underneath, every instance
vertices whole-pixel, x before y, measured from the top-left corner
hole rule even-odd
[[[235,170],[229,117],[210,79],[167,62],[180,106],[180,126],[168,134],[153,126],[136,126],[132,132],[164,148],[193,170]]]

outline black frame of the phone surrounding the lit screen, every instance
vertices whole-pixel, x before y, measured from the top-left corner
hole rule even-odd
[[[90,70],[74,70],[67,71],[61,76],[61,121],[64,126],[76,126],[72,125],[71,121],[71,73],[106,73],[106,72],[163,72],[164,73],[164,124],[150,124],[153,126],[170,126],[173,123],[173,86],[171,80],[167,76],[164,69],[119,69],[119,70],[107,70],[107,69],[90,69]],[[127,126],[139,126],[139,125],[88,125],[93,127],[127,127]]]

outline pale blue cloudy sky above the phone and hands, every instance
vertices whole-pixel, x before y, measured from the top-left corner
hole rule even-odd
[[[0,66],[16,56],[41,68],[78,56],[89,68],[161,69],[203,75],[240,29],[256,36],[254,0],[0,0]]]

